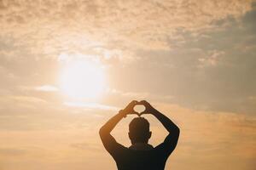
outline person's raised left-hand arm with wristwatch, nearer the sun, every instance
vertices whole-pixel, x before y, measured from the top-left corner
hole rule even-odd
[[[113,152],[116,150],[117,147],[120,147],[120,144],[116,142],[113,136],[110,134],[113,128],[119,123],[119,121],[127,116],[128,114],[136,113],[133,108],[137,105],[137,101],[133,100],[129,105],[125,107],[124,110],[119,111],[119,113],[108,120],[100,129],[100,137],[102,139],[102,143],[106,150],[110,154],[113,155]]]

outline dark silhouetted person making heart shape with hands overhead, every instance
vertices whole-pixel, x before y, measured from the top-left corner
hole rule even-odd
[[[144,105],[145,111],[140,114],[137,113],[133,110],[135,105]],[[131,139],[131,146],[127,148],[117,143],[110,133],[117,123],[129,114],[137,114],[139,117],[134,118],[129,124],[128,134]],[[164,142],[156,147],[148,144],[151,132],[149,122],[141,117],[143,114],[155,116],[169,132]],[[101,127],[100,136],[105,149],[113,156],[119,170],[164,170],[167,158],[177,145],[179,128],[147,101],[133,100],[124,110],[119,111]]]

